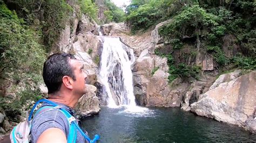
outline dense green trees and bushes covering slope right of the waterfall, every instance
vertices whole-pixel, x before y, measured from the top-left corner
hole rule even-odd
[[[228,65],[242,69],[256,69],[255,48],[255,3],[252,0],[242,1],[165,1],[165,0],[133,0],[127,6],[127,23],[131,24],[133,32],[146,30],[164,20],[170,23],[159,28],[159,34],[172,50],[180,51],[184,58],[195,60],[198,53],[213,57],[218,69]],[[234,57],[225,55],[225,35],[234,35],[233,45],[238,45]],[[183,53],[184,45],[192,46],[191,54]],[[187,50],[187,49],[186,49]],[[198,78],[199,67],[186,61],[175,61],[173,53],[161,53],[156,49],[155,54],[166,57],[169,65],[169,80],[176,77]],[[166,50],[165,50],[166,51]],[[168,51],[168,50],[167,50]],[[240,54],[238,53],[240,52]],[[235,68],[234,67],[234,68]]]

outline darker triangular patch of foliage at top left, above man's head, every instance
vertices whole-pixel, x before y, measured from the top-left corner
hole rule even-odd
[[[37,31],[42,37],[47,51],[49,52],[58,39],[60,31],[72,13],[72,8],[64,0],[61,1],[24,1],[10,0],[6,2],[10,8],[15,8],[18,17]]]

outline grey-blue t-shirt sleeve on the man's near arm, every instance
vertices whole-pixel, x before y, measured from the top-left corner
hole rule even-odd
[[[32,119],[32,142],[37,142],[39,136],[48,128],[59,128],[65,133],[66,137],[69,134],[68,120],[65,115],[58,110],[49,110],[39,113],[39,115]]]

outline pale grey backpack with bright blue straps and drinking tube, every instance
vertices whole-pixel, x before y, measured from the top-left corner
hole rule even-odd
[[[92,140],[82,131],[82,129],[78,126],[76,118],[73,117],[68,111],[66,111],[65,109],[59,107],[56,103],[53,103],[52,101],[49,101],[48,99],[41,99],[39,101],[36,102],[35,105],[33,105],[32,110],[30,111],[29,114],[29,118],[21,123],[19,123],[17,126],[14,127],[14,129],[11,131],[10,134],[10,139],[12,143],[16,143],[16,142],[31,142],[31,138],[30,138],[30,130],[31,130],[31,122],[32,122],[32,115],[33,115],[33,111],[35,110],[36,106],[41,103],[41,102],[45,102],[45,103],[49,103],[52,106],[43,106],[42,108],[40,108],[36,113],[35,116],[37,115],[37,113],[42,112],[43,110],[45,110],[46,108],[48,108],[49,110],[52,109],[58,109],[60,110],[68,119],[69,121],[69,135],[68,135],[68,139],[67,141],[69,143],[71,142],[76,142],[76,138],[77,138],[77,130],[83,135],[83,137],[89,141],[89,142],[96,142],[97,140],[99,140],[99,135],[96,134],[95,138],[93,138]],[[76,130],[77,129],[77,130]]]

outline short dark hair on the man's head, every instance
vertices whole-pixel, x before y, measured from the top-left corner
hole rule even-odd
[[[44,62],[43,78],[48,94],[54,94],[59,91],[62,85],[62,77],[67,75],[73,80],[76,77],[73,73],[70,59],[76,59],[74,55],[67,53],[56,53],[50,55]]]

